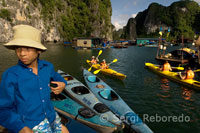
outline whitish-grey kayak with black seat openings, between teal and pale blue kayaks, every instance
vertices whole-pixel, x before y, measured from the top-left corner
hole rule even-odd
[[[67,80],[67,86],[63,92],[68,94],[73,100],[91,109],[101,118],[104,118],[106,121],[116,125],[119,130],[124,128],[122,121],[118,119],[106,105],[100,102],[84,84],[61,70],[58,70],[58,73],[61,74],[65,80]]]

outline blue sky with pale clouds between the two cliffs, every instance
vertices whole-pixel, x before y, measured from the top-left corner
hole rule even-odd
[[[111,0],[111,22],[119,29],[127,24],[129,18],[135,17],[138,12],[147,9],[149,4],[156,2],[163,6],[169,6],[175,1],[179,0]],[[200,3],[200,0],[194,1]]]

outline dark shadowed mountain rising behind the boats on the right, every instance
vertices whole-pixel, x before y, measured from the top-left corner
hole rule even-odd
[[[136,26],[136,31],[132,32],[136,32],[138,37],[158,37],[162,27],[164,37],[170,28],[171,37],[184,35],[186,38],[193,38],[196,32],[200,32],[200,6],[191,0],[174,2],[168,7],[152,3],[148,9],[139,12],[135,20],[136,25],[127,24],[125,27]],[[122,34],[127,33],[124,30]]]

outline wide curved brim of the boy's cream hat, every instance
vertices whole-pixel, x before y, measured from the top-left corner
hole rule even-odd
[[[4,44],[4,46],[6,48],[12,49],[12,50],[14,50],[15,47],[17,47],[17,46],[31,47],[31,48],[40,49],[42,51],[45,51],[47,49],[41,43],[38,43],[31,39],[14,39],[14,40],[11,40],[10,42]]]

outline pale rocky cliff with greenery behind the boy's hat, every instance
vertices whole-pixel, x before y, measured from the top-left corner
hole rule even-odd
[[[44,41],[74,37],[112,39],[110,0],[0,0],[0,42],[12,37],[12,26],[42,30]]]

